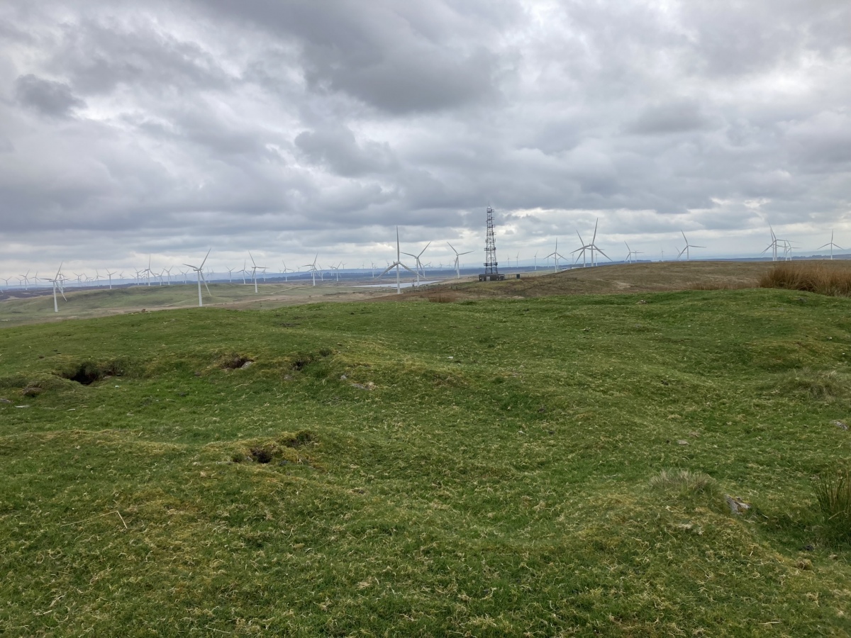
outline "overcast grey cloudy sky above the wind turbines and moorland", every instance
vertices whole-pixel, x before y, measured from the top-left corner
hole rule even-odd
[[[848,0],[3,0],[0,274],[851,248]]]

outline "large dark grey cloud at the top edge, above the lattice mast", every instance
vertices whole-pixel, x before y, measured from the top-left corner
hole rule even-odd
[[[236,5],[210,2],[227,14]],[[304,73],[317,91],[340,91],[383,111],[435,111],[494,98],[497,55],[483,43],[454,42],[447,27],[468,26],[487,13],[461,15],[445,3],[431,11],[380,2],[243,3],[240,16],[287,37],[302,50]],[[498,16],[500,12],[496,13]],[[443,16],[443,21],[435,16]],[[480,21],[483,31],[487,24]],[[468,27],[469,28],[469,27]]]

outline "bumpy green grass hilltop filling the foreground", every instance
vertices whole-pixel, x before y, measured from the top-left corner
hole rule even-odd
[[[851,451],[849,310],[755,289],[4,328],[0,631],[848,635],[813,476]],[[121,376],[62,377],[87,363]]]

